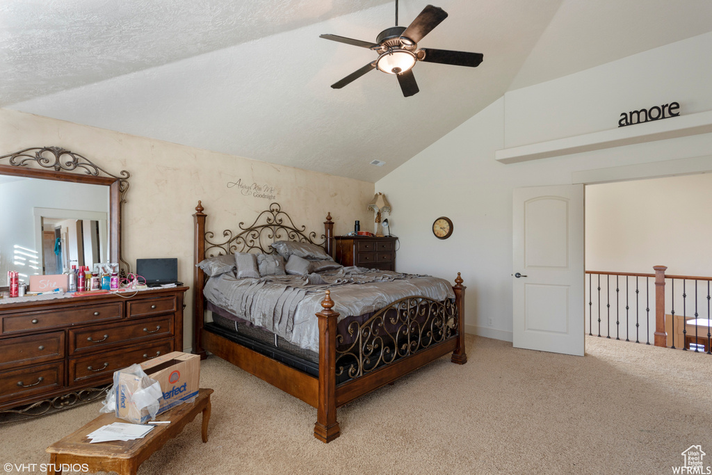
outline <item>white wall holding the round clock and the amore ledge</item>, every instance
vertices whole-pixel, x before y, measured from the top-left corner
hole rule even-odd
[[[698,36],[512,91],[379,180],[376,190],[393,206],[392,233],[401,238],[398,270],[449,280],[460,271],[468,286],[467,330],[511,340],[513,189],[569,184],[572,172],[635,164],[645,170],[651,162],[708,156],[712,134],[512,165],[496,162],[494,152],[506,145],[612,129],[619,113],[633,106],[679,100],[683,114],[711,110],[712,92],[698,87],[709,82],[709,67],[699,63],[709,63],[710,51],[712,35]],[[685,61],[661,74],[672,58]],[[680,94],[687,86],[696,97],[686,102]],[[624,100],[629,97],[634,100]],[[712,159],[706,160],[712,169]],[[446,241],[430,230],[442,215],[455,226]]]

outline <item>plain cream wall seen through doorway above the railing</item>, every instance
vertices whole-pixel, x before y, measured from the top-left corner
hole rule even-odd
[[[712,276],[712,174],[586,187],[586,269]]]

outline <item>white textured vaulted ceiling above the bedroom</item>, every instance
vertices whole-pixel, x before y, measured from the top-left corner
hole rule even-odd
[[[401,0],[407,26],[426,1]],[[507,90],[712,31],[709,0],[441,0],[420,92],[320,33],[375,41],[384,0],[4,0],[0,106],[375,182]],[[80,145],[74,146],[77,150]],[[369,165],[372,160],[383,167]]]

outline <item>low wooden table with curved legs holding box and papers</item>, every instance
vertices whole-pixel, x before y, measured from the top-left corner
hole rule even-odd
[[[170,421],[170,424],[158,424],[143,439],[90,444],[87,434],[113,422],[126,422],[117,419],[114,414],[102,414],[73,434],[47,447],[47,452],[50,454],[47,473],[60,475],[63,465],[85,464],[89,472],[115,471],[121,475],[135,475],[138,467],[151,454],[163,447],[169,439],[180,434],[200,412],[203,413],[203,442],[208,442],[212,392],[213,390],[201,389],[195,402],[180,404],[174,409],[157,415],[155,420]]]

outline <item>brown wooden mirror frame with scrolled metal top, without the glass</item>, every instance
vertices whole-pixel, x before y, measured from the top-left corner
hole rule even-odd
[[[8,160],[9,165],[3,165],[2,160]],[[32,147],[0,156],[0,174],[108,186],[109,257],[111,262],[119,263],[123,274],[130,273],[131,267],[121,256],[121,209],[126,202],[129,172],[109,173],[86,157],[62,147]]]

